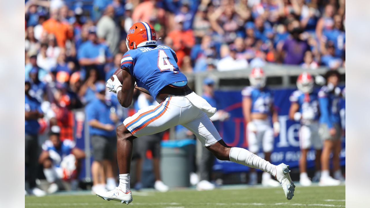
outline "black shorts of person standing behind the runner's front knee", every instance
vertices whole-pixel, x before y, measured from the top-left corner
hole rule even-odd
[[[136,138],[135,148],[140,158],[146,157],[147,150],[151,150],[154,158],[161,156],[161,139],[162,133],[146,135]]]

